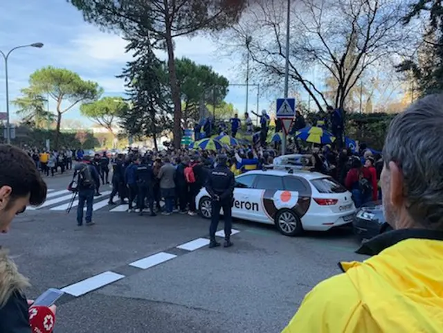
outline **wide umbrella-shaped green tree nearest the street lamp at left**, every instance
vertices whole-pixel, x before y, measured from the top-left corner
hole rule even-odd
[[[55,147],[59,147],[60,123],[62,114],[82,102],[96,100],[102,93],[96,82],[84,81],[80,75],[68,69],[57,69],[47,66],[30,75],[30,89],[39,94],[48,94],[57,105],[57,126]],[[62,103],[69,102],[69,106],[62,107]]]

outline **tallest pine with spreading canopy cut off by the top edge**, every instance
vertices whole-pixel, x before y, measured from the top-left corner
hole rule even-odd
[[[134,39],[168,52],[168,74],[174,103],[174,146],[180,147],[180,90],[174,63],[174,37],[201,30],[221,30],[237,22],[247,0],[67,0],[81,10],[86,21],[120,30]],[[134,49],[134,48],[133,48]],[[141,51],[134,49],[134,51]]]

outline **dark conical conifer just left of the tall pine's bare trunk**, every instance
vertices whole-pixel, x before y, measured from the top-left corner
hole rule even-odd
[[[123,114],[122,125],[129,134],[148,136],[158,149],[157,140],[168,129],[172,129],[174,109],[168,84],[165,64],[152,51],[147,38],[129,39],[127,51],[136,51],[136,60],[127,62],[122,75],[130,107]]]

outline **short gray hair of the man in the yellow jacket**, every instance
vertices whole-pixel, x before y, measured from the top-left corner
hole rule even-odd
[[[427,96],[392,120],[383,160],[401,169],[414,222],[443,230],[443,95]]]

